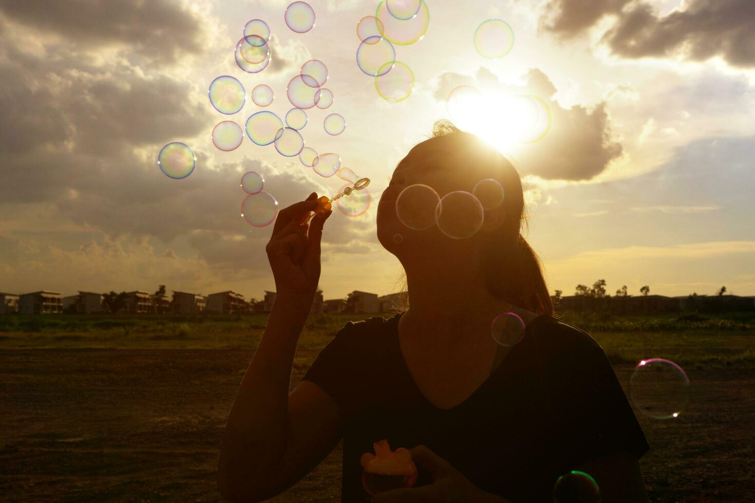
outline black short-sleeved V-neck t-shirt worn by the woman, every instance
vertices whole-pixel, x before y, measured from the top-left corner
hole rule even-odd
[[[485,492],[553,501],[559,475],[609,452],[639,459],[648,443],[602,348],[578,328],[541,315],[474,393],[451,409],[419,390],[399,347],[399,318],[348,322],[303,379],[344,415],[341,501],[370,501],[364,452],[424,444]],[[415,487],[433,483],[418,465]]]

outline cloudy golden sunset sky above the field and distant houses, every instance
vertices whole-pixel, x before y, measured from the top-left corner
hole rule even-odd
[[[680,296],[755,295],[755,2],[751,0],[427,0],[430,22],[396,60],[411,95],[390,103],[356,65],[356,24],[373,0],[313,0],[306,33],[278,0],[0,0],[0,291],[275,290],[265,245],[273,225],[239,215],[243,173],[265,179],[279,208],[344,185],[245,137],[222,152],[211,130],[243,126],[249,96],[222,115],[208,86],[232,75],[247,94],[273,88],[265,109],[291,108],[285,89],[307,60],[328,67],[334,104],[307,110],[307,146],[337,152],[371,179],[358,217],[334,210],[322,236],[325,299],[399,290],[401,265],[377,241],[375,212],[396,164],[449,118],[455,86],[486,100],[534,94],[553,121],[533,143],[507,139],[507,119],[475,117],[516,161],[529,230],[551,292],[605,279],[607,290]],[[506,21],[511,51],[488,59],[474,32]],[[271,63],[251,74],[233,49],[248,20],[270,26]],[[328,113],[347,127],[322,130]],[[166,143],[196,154],[185,179],[157,164]],[[459,169],[464,169],[460,166]]]

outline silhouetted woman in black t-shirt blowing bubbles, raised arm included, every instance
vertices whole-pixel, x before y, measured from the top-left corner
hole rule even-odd
[[[233,501],[279,494],[343,438],[341,501],[350,503],[553,501],[554,483],[570,471],[590,474],[606,503],[647,501],[638,459],[648,444],[624,391],[602,348],[552,317],[541,266],[519,234],[519,174],[448,122],[433,133],[399,163],[377,207],[377,238],[406,273],[407,308],[348,322],[291,394],[331,212],[300,225],[316,207],[313,194],[279,213],[267,245],[276,303],[223,437],[221,493]],[[436,226],[411,231],[396,215],[405,187],[424,184],[442,197],[486,178],[501,184],[504,201],[469,238]],[[516,345],[491,336],[507,312],[524,325]],[[359,459],[383,439],[411,450],[419,477],[371,498]]]

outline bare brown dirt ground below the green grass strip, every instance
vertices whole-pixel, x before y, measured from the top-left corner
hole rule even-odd
[[[221,501],[220,439],[249,350],[0,351],[0,500]],[[631,366],[616,368],[629,382]],[[306,368],[294,368],[292,388]],[[753,501],[755,369],[689,371],[688,409],[640,416],[651,501]],[[270,501],[340,501],[341,444]]]

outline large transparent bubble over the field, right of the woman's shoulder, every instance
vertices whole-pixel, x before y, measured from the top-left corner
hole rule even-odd
[[[689,402],[689,378],[671,360],[642,360],[634,367],[629,394],[636,409],[646,416],[673,419]]]

